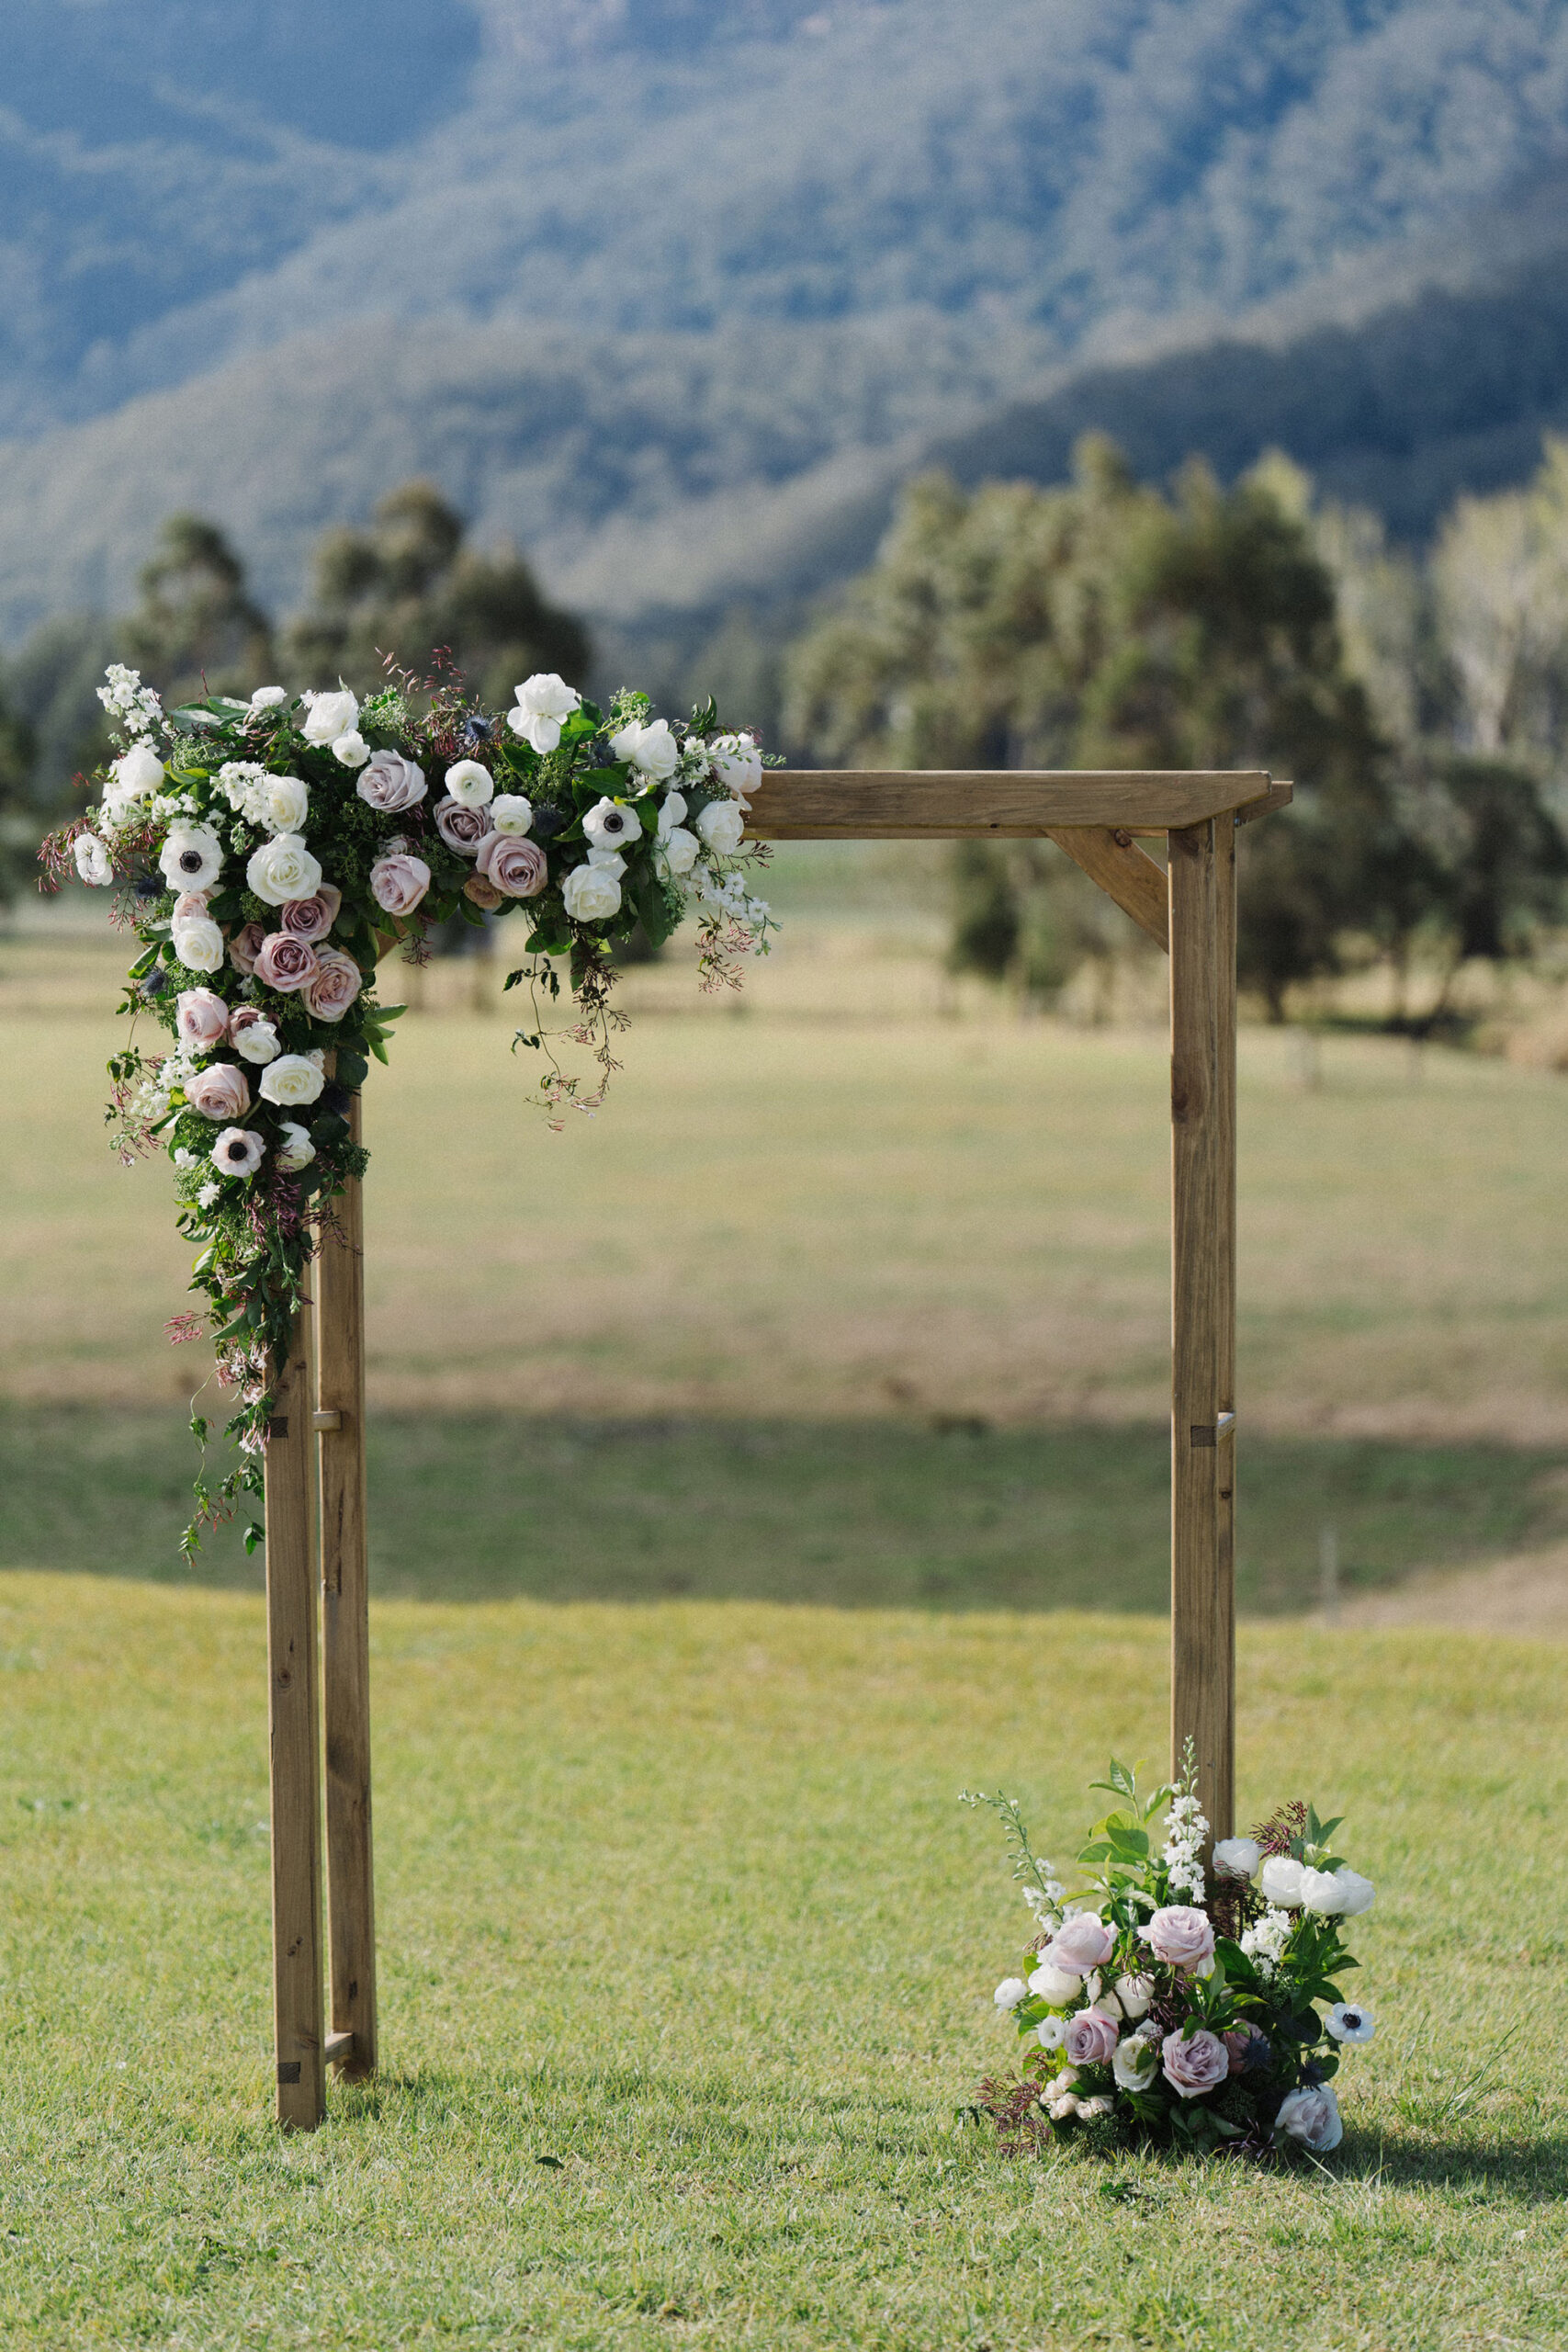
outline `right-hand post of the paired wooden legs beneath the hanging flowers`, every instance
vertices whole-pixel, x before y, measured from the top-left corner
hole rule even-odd
[[[348,1112],[360,1141],[360,1096]],[[369,1799],[369,1583],[364,1543],[364,1200],[336,1202],[341,1240],[315,1268],[322,1446],[322,1691],[327,1712],[327,1915],[331,2063],[376,2072],[376,1886]],[[343,2039],[346,2037],[346,2039]]]

